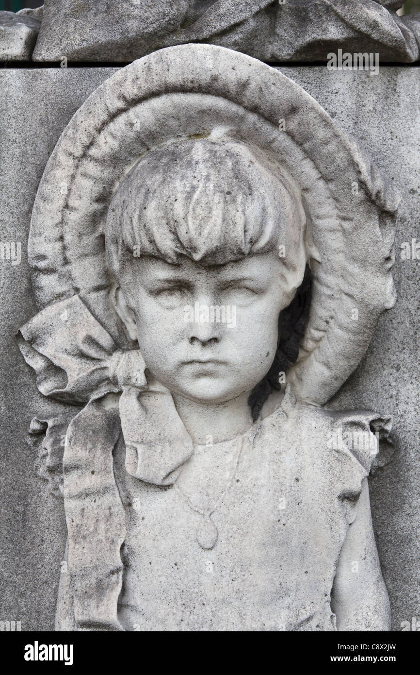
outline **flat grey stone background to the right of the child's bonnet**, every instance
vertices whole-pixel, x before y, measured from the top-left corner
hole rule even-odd
[[[396,221],[393,269],[396,306],[384,316],[361,366],[338,392],[340,410],[386,410],[393,419],[394,460],[371,478],[372,515],[382,572],[393,607],[394,630],[420,614],[419,523],[419,316],[420,261],[402,259],[401,244],[419,242],[420,122],[404,110],[420,101],[417,68],[381,68],[378,78],[363,73],[329,73],[323,68],[283,68],[366,148],[398,185],[402,200]]]

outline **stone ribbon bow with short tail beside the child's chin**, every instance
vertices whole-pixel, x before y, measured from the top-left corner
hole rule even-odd
[[[193,442],[171,392],[146,379],[140,350],[119,349],[80,296],[44,308],[22,326],[18,342],[44,396],[89,406],[121,393],[127,472],[154,485],[176,481],[193,454]]]

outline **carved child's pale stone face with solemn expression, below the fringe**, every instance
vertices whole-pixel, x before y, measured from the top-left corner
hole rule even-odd
[[[152,375],[173,394],[201,402],[251,391],[270,369],[278,315],[293,295],[282,265],[274,252],[217,267],[186,257],[181,265],[133,258],[123,294],[131,337]]]

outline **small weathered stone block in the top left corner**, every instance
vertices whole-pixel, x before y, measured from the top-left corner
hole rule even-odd
[[[0,11],[0,61],[30,61],[40,26],[34,16]]]

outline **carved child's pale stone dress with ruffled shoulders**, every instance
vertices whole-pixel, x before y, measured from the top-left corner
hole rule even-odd
[[[58,630],[336,630],[330,594],[378,416],[288,387],[276,412],[151,485],[125,470],[115,412],[94,414],[67,452]]]

